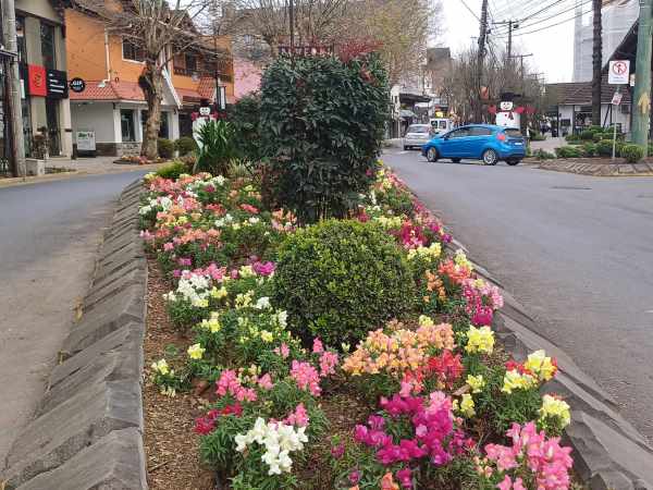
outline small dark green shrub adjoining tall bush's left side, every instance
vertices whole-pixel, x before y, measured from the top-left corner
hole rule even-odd
[[[261,98],[258,95],[243,97],[231,106],[229,121],[236,132],[236,147],[241,157],[250,162],[258,162],[261,155]]]

